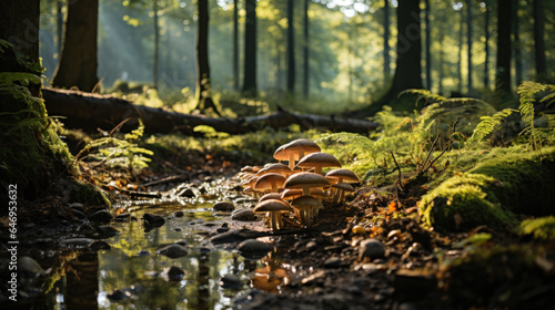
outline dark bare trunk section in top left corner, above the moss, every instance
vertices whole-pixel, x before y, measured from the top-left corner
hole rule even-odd
[[[16,52],[39,61],[39,1],[0,1],[0,38]],[[9,71],[2,68],[1,71]]]

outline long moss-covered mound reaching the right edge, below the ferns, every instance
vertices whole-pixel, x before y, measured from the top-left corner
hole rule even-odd
[[[555,213],[555,148],[492,152],[467,173],[455,175],[418,203],[425,225],[443,230],[480,225],[507,227],[514,214]]]

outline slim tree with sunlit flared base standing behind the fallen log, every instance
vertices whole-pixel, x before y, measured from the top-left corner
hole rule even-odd
[[[205,112],[212,108],[219,116],[210,85],[209,64],[209,0],[198,0],[198,25],[196,25],[196,110]]]

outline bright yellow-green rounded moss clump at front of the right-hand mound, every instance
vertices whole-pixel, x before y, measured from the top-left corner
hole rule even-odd
[[[514,221],[491,189],[494,178],[462,174],[424,195],[418,203],[424,223],[444,230],[468,229],[480,225],[502,228]]]

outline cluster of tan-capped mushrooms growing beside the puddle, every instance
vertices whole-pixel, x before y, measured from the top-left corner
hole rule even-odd
[[[283,229],[282,217],[291,211],[311,227],[320,208],[343,202],[345,193],[354,192],[351,184],[359,183],[356,174],[306,138],[280,146],[273,157],[279,163],[246,166],[239,176],[244,193],[260,198],[254,213],[264,214],[274,231]],[[335,169],[324,175],[324,168]]]

